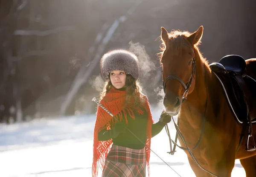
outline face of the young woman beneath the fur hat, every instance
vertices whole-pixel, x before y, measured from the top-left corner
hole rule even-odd
[[[110,73],[110,80],[116,89],[125,86],[126,74],[124,71],[114,70]]]

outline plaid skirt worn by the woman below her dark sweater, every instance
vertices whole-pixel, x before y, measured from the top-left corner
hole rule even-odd
[[[145,177],[146,151],[112,145],[102,177]]]

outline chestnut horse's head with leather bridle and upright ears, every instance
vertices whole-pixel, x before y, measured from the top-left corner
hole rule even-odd
[[[200,43],[203,26],[194,32],[170,32],[161,27],[163,52],[161,64],[163,67],[163,88],[165,96],[163,105],[166,112],[177,115],[181,103],[195,87],[195,46]]]

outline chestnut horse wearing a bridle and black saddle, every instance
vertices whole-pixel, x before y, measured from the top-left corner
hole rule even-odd
[[[196,177],[231,177],[236,159],[246,177],[255,177],[256,58],[229,55],[222,64],[209,64],[199,50],[203,29],[168,32],[161,27],[163,106],[177,115],[180,146]],[[244,107],[247,114],[237,116]]]

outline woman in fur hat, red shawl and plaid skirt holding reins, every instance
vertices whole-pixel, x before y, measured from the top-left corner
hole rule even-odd
[[[137,81],[139,61],[136,55],[126,50],[113,50],[103,55],[100,66],[107,79],[100,103],[119,121],[98,106],[93,177],[103,166],[102,177],[145,177],[146,165],[149,175],[151,137],[160,133],[171,117],[163,112],[160,121],[154,124],[148,99],[141,93]]]

